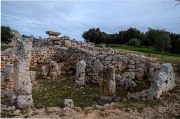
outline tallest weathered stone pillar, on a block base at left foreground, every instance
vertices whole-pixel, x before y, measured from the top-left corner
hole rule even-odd
[[[11,104],[17,108],[29,108],[33,106],[32,83],[29,72],[31,49],[31,38],[17,40],[14,49],[14,93],[11,96]]]

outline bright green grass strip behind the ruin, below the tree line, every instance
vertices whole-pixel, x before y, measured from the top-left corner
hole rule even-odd
[[[139,47],[128,47],[128,46],[112,46],[111,48],[116,49],[120,52],[131,52],[135,54],[143,54],[148,57],[149,48],[139,48]],[[158,58],[158,62],[165,63],[170,62],[172,64],[177,64],[180,61],[180,54],[173,54],[170,52],[164,52],[164,57],[161,57],[160,50],[151,50],[151,57]]]

